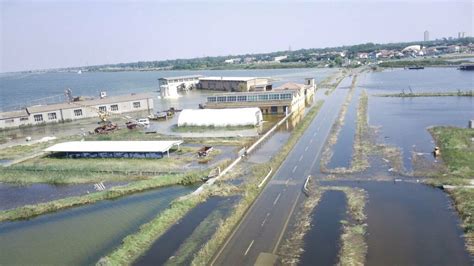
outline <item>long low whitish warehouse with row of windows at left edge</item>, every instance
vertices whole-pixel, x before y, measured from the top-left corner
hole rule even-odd
[[[23,110],[0,113],[0,129],[40,125],[98,117],[99,112],[110,115],[153,109],[151,94],[104,96],[98,99],[35,105]]]

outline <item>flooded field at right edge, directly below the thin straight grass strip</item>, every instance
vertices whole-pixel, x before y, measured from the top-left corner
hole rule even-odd
[[[379,142],[400,147],[405,168],[412,170],[413,153],[434,161],[430,126],[467,127],[474,116],[472,97],[369,98],[369,121],[381,126]]]

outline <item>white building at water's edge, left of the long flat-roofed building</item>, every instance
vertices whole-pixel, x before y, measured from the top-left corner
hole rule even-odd
[[[178,98],[179,91],[187,91],[195,88],[199,83],[201,75],[164,77],[158,79],[161,98]]]

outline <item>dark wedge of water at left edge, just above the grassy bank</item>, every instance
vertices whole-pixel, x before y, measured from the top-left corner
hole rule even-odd
[[[125,185],[128,182],[104,182],[106,188]],[[94,184],[5,184],[0,183],[0,210],[18,208],[51,200],[80,196],[95,192]]]

